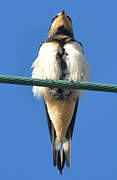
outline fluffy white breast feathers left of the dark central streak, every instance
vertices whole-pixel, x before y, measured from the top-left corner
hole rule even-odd
[[[32,68],[32,78],[59,80],[61,68],[57,54],[62,53],[62,48],[57,42],[45,42],[41,45],[38,57],[34,61]],[[46,87],[33,86],[36,97],[44,94]]]

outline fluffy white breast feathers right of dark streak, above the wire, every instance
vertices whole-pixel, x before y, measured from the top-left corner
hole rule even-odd
[[[88,81],[89,66],[84,56],[83,48],[79,42],[73,41],[64,45],[68,55],[67,66],[70,72],[69,80]]]

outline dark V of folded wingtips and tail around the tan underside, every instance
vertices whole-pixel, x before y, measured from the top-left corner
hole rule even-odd
[[[66,162],[66,166],[70,167],[70,146],[71,146],[71,138],[73,135],[73,129],[74,129],[74,123],[75,123],[75,118],[76,118],[78,102],[79,102],[79,99],[76,102],[73,117],[72,117],[71,123],[70,123],[67,133],[66,133],[66,141],[64,143],[57,143],[54,125],[49,117],[47,106],[46,106],[46,103],[44,100],[49,134],[50,134],[50,139],[52,142],[53,165],[57,166],[60,174],[62,174],[62,170],[64,168],[65,162]]]

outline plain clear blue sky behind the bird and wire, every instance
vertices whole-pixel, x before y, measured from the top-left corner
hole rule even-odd
[[[65,9],[81,41],[91,81],[117,84],[116,0],[1,0],[0,74],[31,77],[53,16]],[[42,99],[32,87],[0,84],[0,179],[117,179],[117,95],[88,91],[79,103],[71,168],[52,166]]]

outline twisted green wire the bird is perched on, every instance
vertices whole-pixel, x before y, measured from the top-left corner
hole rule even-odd
[[[27,77],[0,75],[0,83],[117,93],[117,85],[93,82],[69,82],[63,80],[44,80]]]

